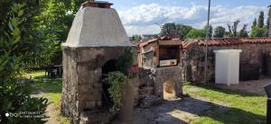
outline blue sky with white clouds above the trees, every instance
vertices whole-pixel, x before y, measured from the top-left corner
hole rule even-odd
[[[120,15],[129,36],[160,31],[158,23],[176,22],[202,28],[207,20],[208,0],[109,0]],[[239,29],[267,14],[270,0],[211,0],[210,24],[224,26],[240,20]]]

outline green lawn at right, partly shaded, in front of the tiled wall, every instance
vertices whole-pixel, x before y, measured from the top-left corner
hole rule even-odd
[[[210,100],[211,109],[202,111],[201,119],[192,120],[194,124],[266,123],[266,95],[233,92],[192,84],[185,84],[183,91],[191,97]],[[221,106],[214,101],[223,102],[227,106]],[[221,111],[221,108],[224,108],[224,111]]]

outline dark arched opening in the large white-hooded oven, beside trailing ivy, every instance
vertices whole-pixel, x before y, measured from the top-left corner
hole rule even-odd
[[[102,67],[102,79],[104,79],[109,72],[117,71],[116,62],[117,62],[116,60],[109,60]],[[102,84],[102,105],[103,105],[103,107],[111,107],[113,104],[113,102],[110,98],[110,95],[108,93],[109,87],[110,87],[110,84],[103,81],[103,84]]]

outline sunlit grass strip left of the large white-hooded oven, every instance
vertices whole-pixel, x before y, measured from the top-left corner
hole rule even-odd
[[[52,103],[57,110],[57,120],[61,124],[69,124],[68,118],[61,116],[61,91],[62,91],[62,79],[61,78],[46,78],[43,71],[32,72],[23,74],[23,77],[30,78],[34,81],[33,91],[40,92],[42,97],[46,97]]]

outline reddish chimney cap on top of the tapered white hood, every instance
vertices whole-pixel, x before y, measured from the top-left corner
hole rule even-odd
[[[107,1],[86,1],[81,4],[83,7],[111,8],[112,3]]]

